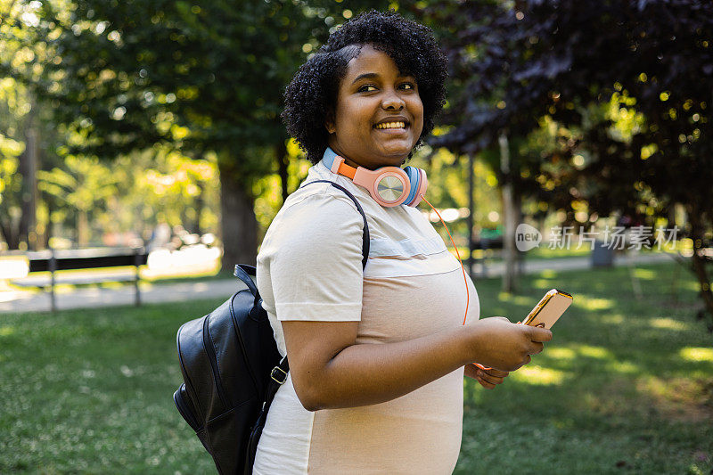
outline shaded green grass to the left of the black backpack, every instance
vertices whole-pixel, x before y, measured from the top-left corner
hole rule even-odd
[[[0,473],[210,473],[176,330],[219,301],[0,315]]]

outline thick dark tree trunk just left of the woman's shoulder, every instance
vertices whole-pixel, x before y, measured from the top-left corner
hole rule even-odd
[[[253,198],[245,192],[240,180],[230,167],[219,163],[220,223],[223,240],[224,270],[235,264],[255,265],[258,256],[258,220],[253,209]]]

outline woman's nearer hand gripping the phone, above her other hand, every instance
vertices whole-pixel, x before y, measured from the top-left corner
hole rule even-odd
[[[515,371],[537,355],[543,342],[552,340],[552,332],[520,323],[503,316],[481,318],[466,325],[471,361],[503,371]]]

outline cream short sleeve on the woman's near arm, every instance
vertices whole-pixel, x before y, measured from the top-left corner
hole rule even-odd
[[[283,209],[258,254],[267,311],[278,320],[360,320],[363,228],[354,203],[326,191]]]

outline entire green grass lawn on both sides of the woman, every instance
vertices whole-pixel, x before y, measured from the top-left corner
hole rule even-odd
[[[479,280],[482,314],[519,320],[552,287],[554,340],[494,389],[465,384],[456,473],[709,473],[713,336],[673,264]],[[0,315],[0,473],[212,473],[176,411],[175,335],[218,301]]]

